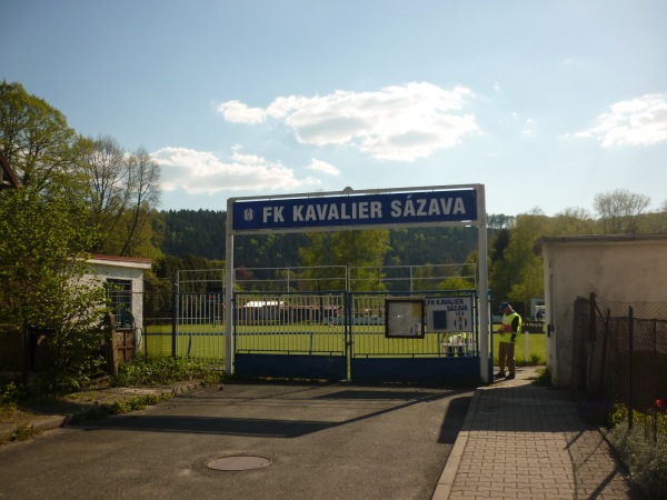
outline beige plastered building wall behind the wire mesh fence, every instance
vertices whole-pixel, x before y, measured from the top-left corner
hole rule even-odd
[[[537,241],[544,258],[547,367],[555,386],[579,383],[581,342],[577,298],[667,302],[667,234],[549,237]]]

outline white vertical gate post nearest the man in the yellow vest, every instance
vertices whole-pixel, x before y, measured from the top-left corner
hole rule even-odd
[[[487,217],[484,184],[477,187],[477,224],[479,247],[479,376],[490,383],[489,376],[489,279],[487,250]]]

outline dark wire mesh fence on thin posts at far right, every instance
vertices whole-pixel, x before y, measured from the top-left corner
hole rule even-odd
[[[590,296],[586,389],[627,408],[628,428],[667,452],[667,303]]]

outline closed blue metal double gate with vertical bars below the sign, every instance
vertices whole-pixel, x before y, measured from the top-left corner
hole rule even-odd
[[[470,331],[387,334],[387,300],[469,297]],[[235,372],[241,377],[355,382],[464,383],[480,380],[476,291],[237,292]],[[426,318],[419,322],[426,326]]]

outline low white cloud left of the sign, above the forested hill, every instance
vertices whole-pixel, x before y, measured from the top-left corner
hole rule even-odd
[[[292,191],[319,184],[313,178],[298,179],[281,163],[255,154],[241,154],[233,148],[231,161],[211,152],[187,148],[162,148],[151,157],[160,164],[165,191],[183,189],[189,194],[216,194],[233,191]]]

